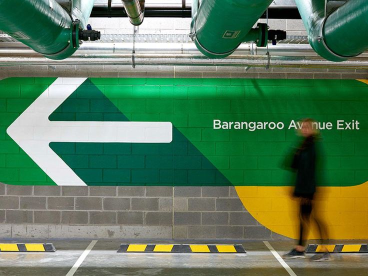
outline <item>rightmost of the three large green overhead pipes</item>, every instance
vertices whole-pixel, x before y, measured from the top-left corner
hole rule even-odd
[[[313,49],[343,61],[368,49],[368,0],[348,0],[324,17],[324,1],[295,0]]]

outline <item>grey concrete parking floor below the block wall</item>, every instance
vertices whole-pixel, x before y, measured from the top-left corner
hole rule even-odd
[[[25,242],[25,240],[11,241]],[[39,240],[26,241],[39,242]],[[54,253],[0,252],[0,275],[65,276],[90,241],[47,240],[47,242],[53,242],[57,248]],[[10,240],[0,242],[10,242]],[[116,253],[120,242],[129,241],[98,240],[73,275],[289,275],[262,241],[243,242],[247,250],[246,254]],[[270,241],[270,244],[281,255],[292,247],[293,242]],[[286,263],[297,276],[366,276],[368,274],[368,253],[333,254],[329,262],[288,260]]]

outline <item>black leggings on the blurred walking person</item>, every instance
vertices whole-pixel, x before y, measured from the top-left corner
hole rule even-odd
[[[300,200],[300,210],[299,210],[299,220],[300,220],[300,232],[299,232],[299,242],[298,245],[304,246],[305,245],[305,236],[308,232],[308,225],[310,220],[310,215],[312,213],[312,198],[311,197],[299,197]],[[315,224],[317,225],[319,237],[322,243],[325,242],[327,239],[327,229],[326,227],[320,222],[315,215],[312,215]]]

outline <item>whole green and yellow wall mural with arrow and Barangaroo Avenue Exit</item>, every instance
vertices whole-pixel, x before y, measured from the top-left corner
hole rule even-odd
[[[0,181],[233,185],[259,223],[296,237],[292,175],[281,163],[303,117],[319,122],[318,210],[330,237],[367,238],[366,80],[7,78]]]

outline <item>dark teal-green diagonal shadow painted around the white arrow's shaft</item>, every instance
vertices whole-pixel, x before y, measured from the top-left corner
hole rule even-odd
[[[129,121],[86,80],[50,116],[53,121]],[[170,143],[51,142],[88,185],[231,185],[176,128]]]

